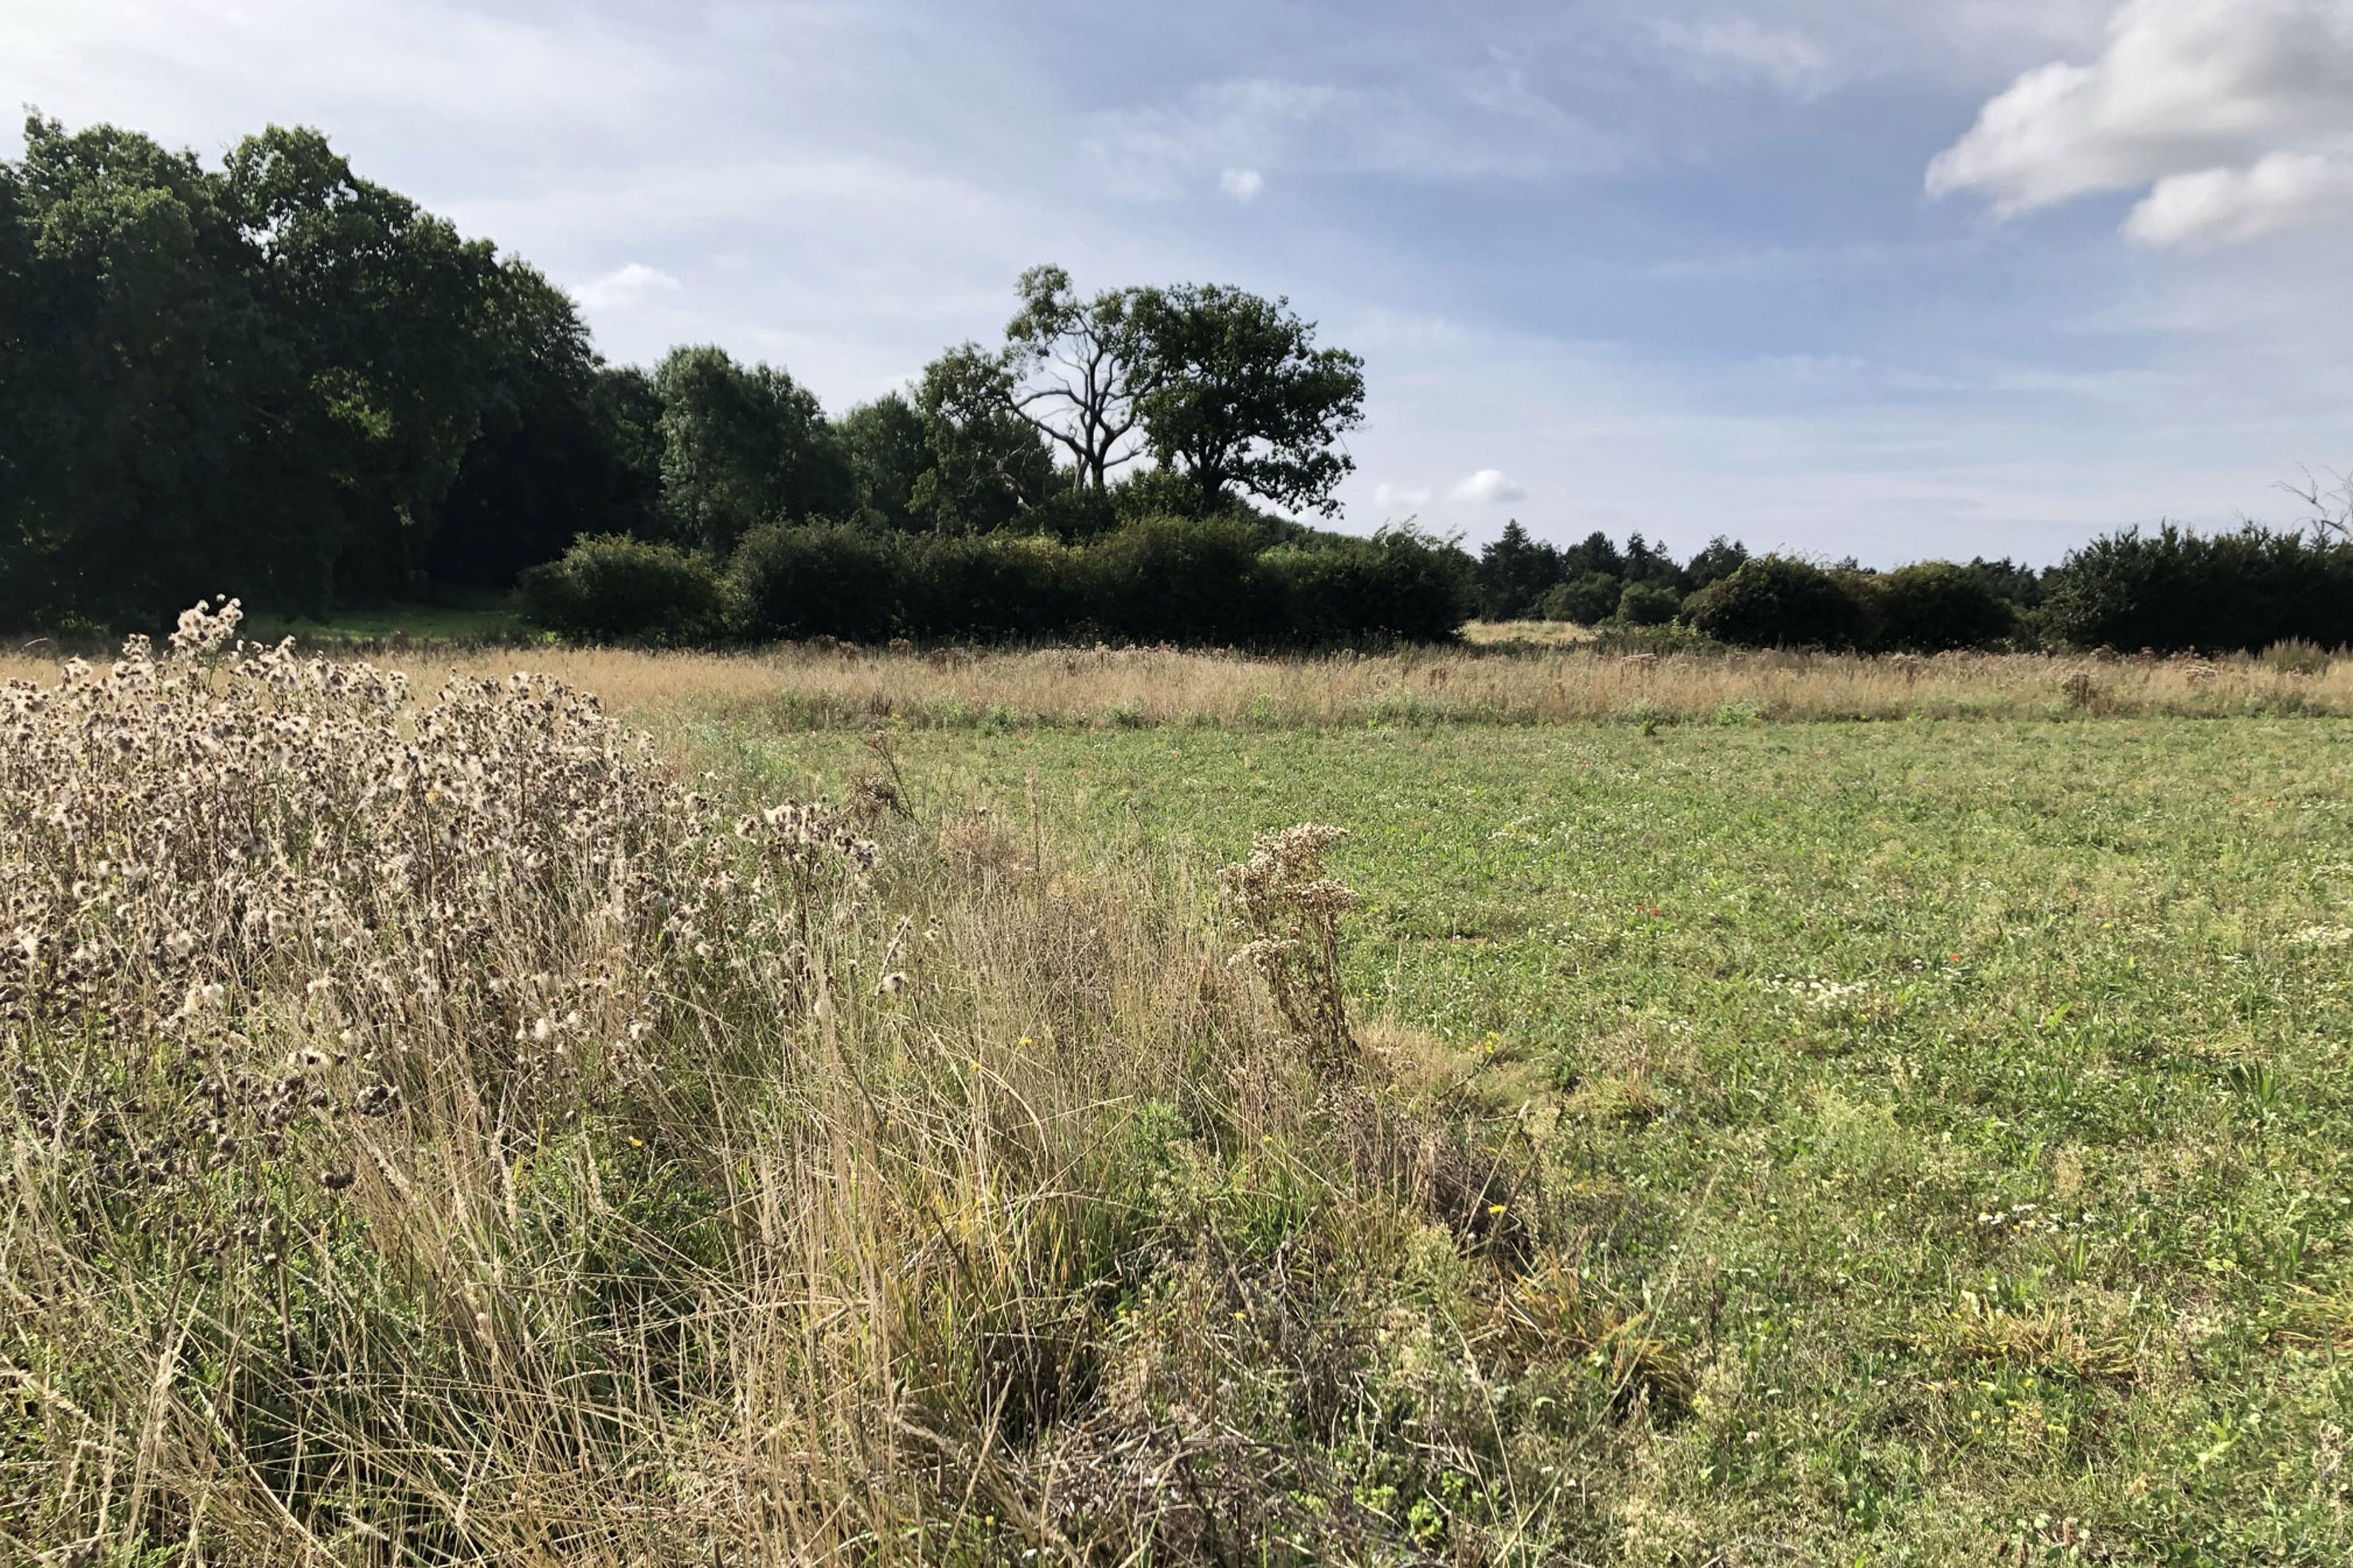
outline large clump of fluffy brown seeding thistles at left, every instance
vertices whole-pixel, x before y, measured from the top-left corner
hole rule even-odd
[[[12,1060],[101,1030],[336,1107],[459,1072],[534,1135],[647,1070],[661,1009],[715,976],[798,997],[812,877],[873,865],[824,806],[729,832],[555,682],[419,705],[402,675],[235,642],[238,618],[198,607],[162,656],[134,637],[0,689]],[[181,1154],[238,1147],[209,1119]]]

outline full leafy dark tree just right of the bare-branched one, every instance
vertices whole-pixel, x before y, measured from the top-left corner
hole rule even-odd
[[[1315,348],[1287,299],[1224,284],[1136,289],[1136,411],[1153,456],[1214,508],[1233,491],[1294,512],[1339,510],[1355,470],[1339,437],[1365,418],[1365,362]]]

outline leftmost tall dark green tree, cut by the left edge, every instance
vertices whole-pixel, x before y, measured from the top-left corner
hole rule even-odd
[[[12,618],[148,621],[254,588],[308,520],[292,343],[254,296],[221,179],[38,115],[5,172],[0,569]]]

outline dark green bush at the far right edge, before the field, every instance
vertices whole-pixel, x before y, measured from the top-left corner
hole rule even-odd
[[[2353,642],[2353,548],[2245,527],[2125,529],[2071,552],[2040,611],[2054,642],[2179,654]]]

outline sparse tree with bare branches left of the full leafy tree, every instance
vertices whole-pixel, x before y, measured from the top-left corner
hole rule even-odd
[[[1005,400],[1033,430],[1071,454],[1078,487],[1104,494],[1136,456],[1136,331],[1132,289],[1080,299],[1059,266],[1033,266],[1016,284],[1021,310],[1005,327]]]

